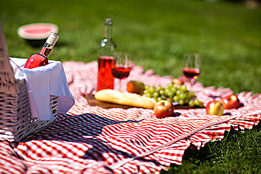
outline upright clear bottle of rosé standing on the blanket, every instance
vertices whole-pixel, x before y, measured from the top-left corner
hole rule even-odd
[[[98,48],[98,77],[97,91],[101,89],[113,89],[114,76],[112,75],[111,66],[113,63],[113,53],[116,45],[112,41],[112,20],[105,19],[104,38],[100,41]]]

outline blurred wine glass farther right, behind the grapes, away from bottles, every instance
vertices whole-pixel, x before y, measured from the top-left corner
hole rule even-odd
[[[201,60],[198,53],[185,53],[183,57],[182,73],[194,85],[201,73]]]

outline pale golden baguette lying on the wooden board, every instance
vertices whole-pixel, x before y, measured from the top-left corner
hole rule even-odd
[[[120,92],[114,89],[102,89],[95,93],[96,100],[122,105],[153,108],[155,100],[136,93]]]

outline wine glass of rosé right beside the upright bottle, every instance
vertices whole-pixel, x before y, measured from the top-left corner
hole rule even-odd
[[[131,71],[131,58],[130,54],[126,52],[115,52],[114,60],[112,62],[111,72],[112,75],[120,80],[121,91],[121,80],[129,76]]]

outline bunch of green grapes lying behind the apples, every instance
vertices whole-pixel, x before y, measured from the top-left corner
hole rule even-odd
[[[166,87],[154,87],[146,85],[143,95],[154,98],[155,101],[169,100],[171,102],[178,102],[179,105],[188,105],[189,107],[198,106],[203,107],[204,103],[199,101],[194,92],[187,90],[185,85],[174,87],[170,84]]]

